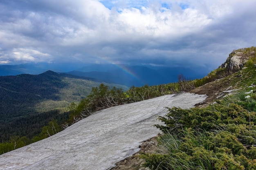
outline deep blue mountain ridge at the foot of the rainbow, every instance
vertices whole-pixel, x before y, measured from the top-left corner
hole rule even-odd
[[[99,65],[100,66],[100,65]],[[123,84],[125,86],[144,86],[145,84],[159,85],[177,82],[177,76],[180,74],[185,75],[189,79],[201,78],[203,73],[196,73],[189,68],[169,68],[158,67],[156,69],[146,66],[125,66],[124,68],[116,68],[103,71],[88,71],[84,72],[85,68],[77,69],[76,71],[67,72],[71,75],[93,77],[101,79],[104,82]],[[195,75],[193,75],[195,74]]]

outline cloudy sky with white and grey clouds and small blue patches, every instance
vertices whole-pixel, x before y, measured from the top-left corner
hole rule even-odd
[[[255,0],[0,0],[0,64],[204,66],[256,46]]]

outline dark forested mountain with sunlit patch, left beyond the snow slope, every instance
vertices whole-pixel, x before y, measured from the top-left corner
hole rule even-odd
[[[99,84],[101,82],[92,78],[52,71],[1,76],[0,141],[16,135],[32,138],[52,119],[58,124],[64,123],[69,117],[70,104],[85,98],[92,87]]]

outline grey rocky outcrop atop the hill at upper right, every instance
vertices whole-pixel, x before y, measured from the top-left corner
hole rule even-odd
[[[221,65],[221,68],[227,68],[227,71],[236,72],[243,68],[243,65],[249,59],[248,55],[244,55],[241,51],[233,51],[229,54],[226,62]]]

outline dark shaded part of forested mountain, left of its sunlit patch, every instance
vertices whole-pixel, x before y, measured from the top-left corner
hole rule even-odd
[[[60,100],[59,90],[68,85],[62,81],[63,78],[53,71],[40,75],[1,76],[0,141],[8,140],[13,135],[31,134],[33,136],[51,119],[67,117],[67,115],[60,116],[58,110],[39,113],[34,108],[36,104],[44,100]],[[7,129],[9,134],[4,133]]]

